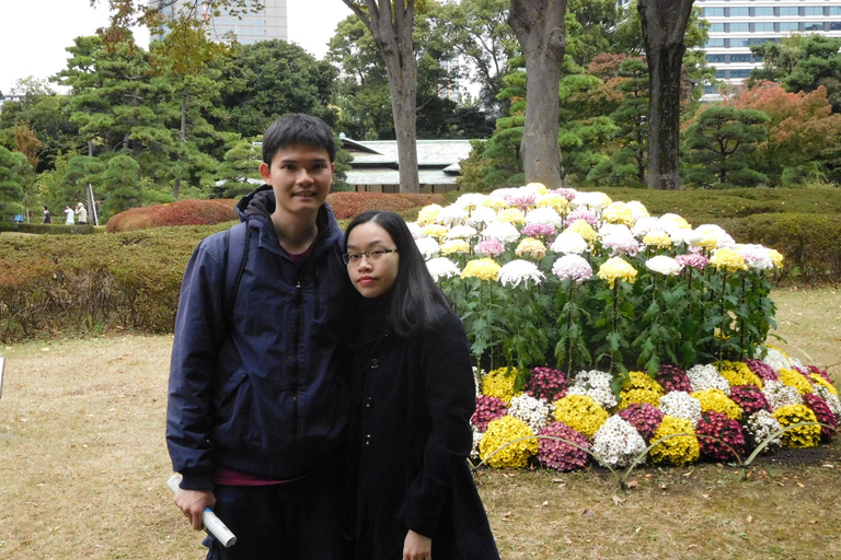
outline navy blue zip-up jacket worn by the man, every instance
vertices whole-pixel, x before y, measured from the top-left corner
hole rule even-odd
[[[184,272],[166,411],[184,489],[211,489],[215,465],[292,479],[346,448],[344,233],[325,203],[299,272],[278,242],[274,208],[268,186],[238,203],[250,248],[230,316],[227,232],[205,238]]]

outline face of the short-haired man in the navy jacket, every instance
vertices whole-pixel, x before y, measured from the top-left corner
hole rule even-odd
[[[335,165],[324,148],[291,144],[275,153],[272,165],[260,165],[275,191],[279,213],[316,213],[327,198]]]

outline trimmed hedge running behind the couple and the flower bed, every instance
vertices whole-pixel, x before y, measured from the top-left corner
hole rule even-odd
[[[777,280],[836,282],[841,278],[841,200],[829,196],[829,190],[604,191],[614,200],[640,200],[652,214],[680,213],[695,226],[718,223],[737,242],[761,243],[780,250],[786,261]],[[361,212],[381,201],[402,205],[392,197],[406,198],[336,195],[331,195],[331,205],[337,213],[346,212],[347,205]],[[362,196],[346,199],[348,195]],[[428,195],[418,197],[423,203],[447,203]],[[406,214],[416,215],[418,208],[401,213],[411,220],[414,217]],[[757,211],[761,208],[775,211]],[[356,214],[341,215],[349,219]],[[343,219],[344,224],[347,219]],[[108,235],[0,235],[0,341],[123,329],[171,332],[181,279],[193,249],[204,237],[230,224],[152,228]],[[53,233],[93,226],[44,228]]]

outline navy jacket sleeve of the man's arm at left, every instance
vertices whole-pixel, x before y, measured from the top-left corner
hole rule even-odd
[[[166,446],[181,487],[212,488],[210,431],[217,349],[224,337],[224,246],[203,241],[184,272],[175,318],[166,407]]]

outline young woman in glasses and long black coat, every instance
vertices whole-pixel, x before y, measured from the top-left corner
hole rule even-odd
[[[345,243],[365,298],[354,325],[357,558],[498,559],[466,464],[475,388],[464,327],[400,215],[365,212]]]

